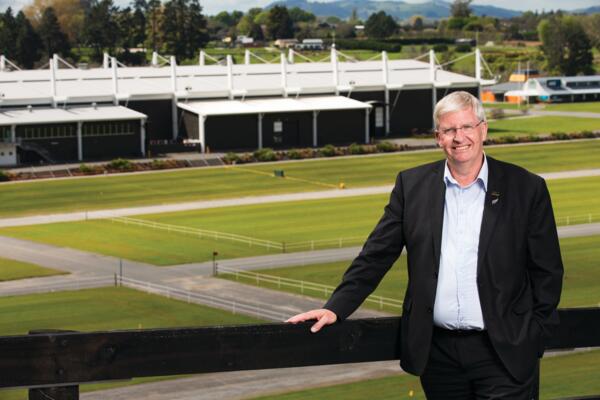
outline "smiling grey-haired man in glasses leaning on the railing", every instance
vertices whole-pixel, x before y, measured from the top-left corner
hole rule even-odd
[[[404,246],[401,366],[431,399],[537,397],[543,334],[558,322],[563,266],[544,180],[487,157],[479,100],[453,92],[434,110],[446,160],[401,172],[383,217],[316,319],[347,318]]]

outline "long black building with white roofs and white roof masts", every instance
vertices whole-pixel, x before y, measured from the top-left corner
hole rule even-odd
[[[432,128],[437,99],[479,94],[477,76],[429,62],[356,62],[333,48],[328,60],[17,70],[0,59],[0,165],[141,157],[157,152],[255,150],[368,143]],[[59,68],[60,67],[60,68]]]

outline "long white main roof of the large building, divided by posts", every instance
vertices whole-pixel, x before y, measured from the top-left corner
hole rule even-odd
[[[383,90],[381,61],[338,62],[338,88],[330,62],[286,65],[286,87],[302,94],[332,94],[336,89]],[[390,87],[432,87],[429,64],[416,60],[388,61]],[[247,96],[281,95],[284,91],[280,64],[232,66],[233,90]],[[130,100],[228,97],[228,67],[222,65],[177,66],[176,90],[171,67],[118,68],[120,98]],[[475,78],[437,71],[436,80],[445,85],[477,86]],[[0,72],[0,107],[52,102],[50,70]],[[56,97],[61,102],[91,103],[115,97],[112,70],[104,68],[56,70]]]

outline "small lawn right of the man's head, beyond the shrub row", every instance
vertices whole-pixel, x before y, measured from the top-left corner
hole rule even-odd
[[[598,118],[519,117],[490,121],[488,136],[526,136],[600,129]]]

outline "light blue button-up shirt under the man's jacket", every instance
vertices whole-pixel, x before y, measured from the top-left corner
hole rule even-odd
[[[446,162],[446,201],[433,322],[446,329],[485,329],[477,289],[477,253],[488,165],[473,183],[461,187]]]

